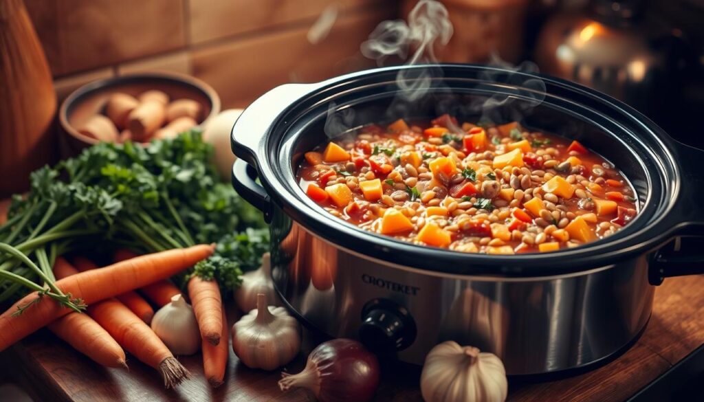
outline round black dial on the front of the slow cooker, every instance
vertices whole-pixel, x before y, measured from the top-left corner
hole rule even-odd
[[[408,310],[388,299],[374,299],[362,308],[359,339],[377,353],[394,353],[415,341],[416,327]]]

